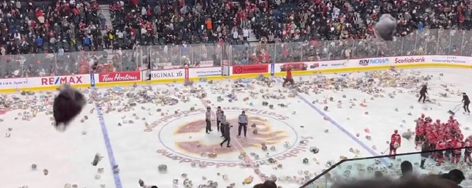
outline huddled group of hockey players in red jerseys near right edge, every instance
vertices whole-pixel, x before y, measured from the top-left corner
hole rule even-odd
[[[423,114],[416,121],[415,133],[416,148],[422,145],[423,152],[445,149],[445,151],[434,151],[430,155],[422,155],[424,158],[421,160],[421,168],[424,168],[425,158],[428,157],[432,157],[437,162],[436,165],[443,164],[445,160],[459,163],[462,149],[457,148],[472,147],[472,136],[464,140],[459,123],[453,116],[450,116],[447,122],[441,122],[440,119],[433,122],[430,117],[425,118]],[[468,164],[472,164],[471,153],[472,149],[465,149],[464,161]]]

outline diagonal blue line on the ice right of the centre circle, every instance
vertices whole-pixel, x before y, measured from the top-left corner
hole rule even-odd
[[[280,79],[279,78],[276,78],[277,82],[280,83]],[[293,91],[293,89],[290,89]],[[298,93],[298,92],[297,92]],[[345,133],[347,136],[349,136],[352,140],[354,140],[355,142],[357,142],[359,145],[362,146],[362,148],[364,148],[365,150],[367,150],[369,153],[371,153],[372,156],[378,156],[379,154],[376,153],[373,149],[371,149],[370,147],[368,147],[367,145],[365,145],[362,141],[360,141],[359,139],[357,139],[352,133],[349,133],[349,131],[347,131],[343,126],[339,125],[336,121],[334,121],[332,118],[330,118],[328,115],[326,115],[325,113],[323,113],[323,111],[321,111],[320,109],[316,108],[315,105],[313,105],[311,102],[309,102],[308,100],[306,100],[302,95],[300,94],[297,94],[298,98],[300,98],[303,102],[305,102],[308,106],[310,106],[313,110],[315,110],[316,112],[318,112],[321,116],[323,117],[327,117],[328,118],[328,121],[333,124],[334,126],[336,126],[341,132]],[[384,158],[380,158],[380,161],[385,164],[385,165],[388,165],[387,161],[384,159]]]

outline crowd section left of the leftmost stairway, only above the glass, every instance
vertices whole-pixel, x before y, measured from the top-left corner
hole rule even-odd
[[[1,55],[101,49],[95,0],[3,1]]]

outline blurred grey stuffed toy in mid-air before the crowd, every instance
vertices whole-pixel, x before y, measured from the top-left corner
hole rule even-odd
[[[389,14],[383,14],[379,22],[375,24],[374,31],[377,38],[382,40],[393,40],[396,29],[396,20]]]

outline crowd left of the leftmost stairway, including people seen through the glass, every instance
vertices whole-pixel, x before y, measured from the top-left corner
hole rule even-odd
[[[102,50],[98,6],[96,0],[0,2],[0,76],[50,75],[59,65],[75,73],[70,62],[80,55],[68,52]]]

